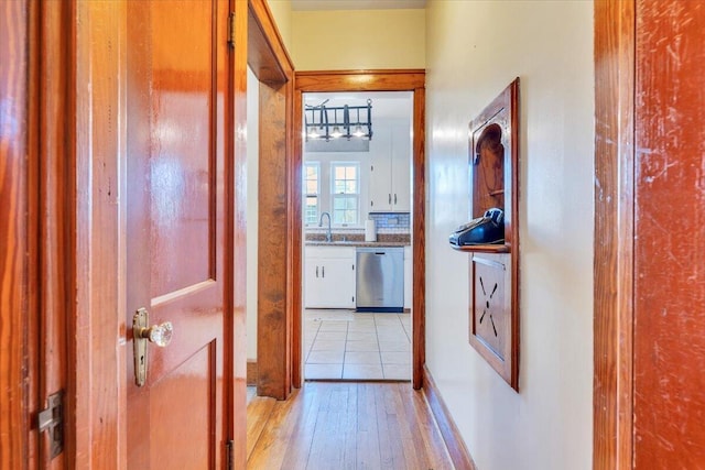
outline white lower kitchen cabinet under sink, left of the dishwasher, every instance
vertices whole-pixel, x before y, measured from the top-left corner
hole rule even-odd
[[[306,247],[306,308],[355,308],[355,248]]]

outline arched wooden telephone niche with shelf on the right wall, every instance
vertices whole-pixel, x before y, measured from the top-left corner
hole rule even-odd
[[[502,209],[505,244],[468,253],[469,343],[519,391],[519,78],[469,124],[470,219]]]

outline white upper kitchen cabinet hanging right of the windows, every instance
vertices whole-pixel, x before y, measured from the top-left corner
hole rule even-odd
[[[409,122],[390,125],[382,147],[388,152],[372,155],[369,183],[369,211],[400,211],[411,209],[411,134]]]

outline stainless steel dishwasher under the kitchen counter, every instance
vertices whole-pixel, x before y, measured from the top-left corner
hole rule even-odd
[[[357,249],[357,310],[404,310],[404,249]]]

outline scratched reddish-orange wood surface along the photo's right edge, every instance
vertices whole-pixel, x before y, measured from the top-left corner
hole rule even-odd
[[[637,0],[636,15],[632,462],[695,469],[705,466],[705,4]]]

